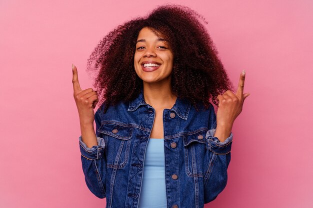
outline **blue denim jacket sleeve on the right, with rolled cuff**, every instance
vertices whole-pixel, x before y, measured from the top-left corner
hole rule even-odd
[[[210,161],[204,177],[205,204],[213,201],[227,184],[227,168],[232,144],[232,133],[224,142],[220,142],[217,137],[214,137],[216,115],[212,105],[210,105],[208,128],[205,139]]]

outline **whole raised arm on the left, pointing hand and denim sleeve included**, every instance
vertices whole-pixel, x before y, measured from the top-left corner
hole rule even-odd
[[[92,88],[81,90],[77,69],[74,65],[72,65],[72,73],[74,100],[78,110],[81,131],[79,148],[85,182],[95,196],[104,198],[105,186],[103,186],[103,182],[105,182],[106,173],[105,143],[101,135],[95,134],[93,129],[93,120],[96,124],[96,130],[101,124],[101,108],[94,115],[93,109],[98,102],[96,91],[93,91]]]

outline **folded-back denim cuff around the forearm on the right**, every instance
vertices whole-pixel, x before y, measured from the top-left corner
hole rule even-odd
[[[215,131],[216,129],[210,129],[206,132],[206,148],[217,155],[229,153],[232,144],[232,133],[224,142],[220,142],[217,137],[214,137]]]

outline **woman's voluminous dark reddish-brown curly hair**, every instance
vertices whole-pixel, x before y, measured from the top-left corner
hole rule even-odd
[[[197,109],[205,108],[209,100],[217,105],[216,97],[232,84],[217,55],[217,50],[194,10],[181,6],[162,5],[145,17],[118,25],[95,47],[87,62],[87,70],[97,72],[94,87],[99,103],[115,105],[135,99],[143,82],[134,70],[136,39],[143,27],[165,37],[174,54],[171,75],[173,94],[189,100]]]

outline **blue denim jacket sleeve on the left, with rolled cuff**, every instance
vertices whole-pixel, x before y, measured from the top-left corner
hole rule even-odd
[[[94,121],[96,130],[101,125],[101,108],[95,115]],[[82,171],[85,176],[85,182],[88,189],[98,198],[105,198],[105,174],[106,174],[106,158],[105,158],[105,142],[103,135],[96,131],[97,146],[88,148],[79,136],[79,149],[81,153]]]

